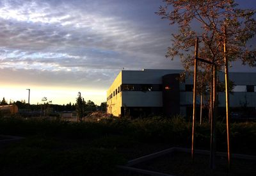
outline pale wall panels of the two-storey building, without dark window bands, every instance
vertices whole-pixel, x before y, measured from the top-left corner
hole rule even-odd
[[[145,107],[145,108],[161,108],[163,107],[162,91],[138,91],[127,90],[122,91],[122,84],[163,84],[162,77],[167,74],[179,74],[183,70],[122,70],[110,86],[107,95],[112,94],[112,98],[108,98],[108,113],[115,116],[121,115],[121,109],[124,107]],[[224,81],[224,73],[218,73],[219,81]],[[247,107],[256,108],[256,73],[240,73],[230,72],[230,80],[236,85],[234,93],[230,94],[230,107],[241,107],[246,104]],[[186,114],[186,107],[193,104],[192,90],[186,90],[186,86],[193,86],[193,77],[187,77],[185,83],[179,83],[180,89],[180,113]],[[254,87],[254,92],[246,92],[246,86]],[[113,96],[113,92],[117,88],[120,92]],[[209,93],[208,93],[209,94]],[[225,107],[225,92],[219,92],[219,106]],[[209,96],[209,95],[205,95]],[[207,103],[207,100],[204,101]],[[196,104],[200,104],[200,96],[196,97]]]

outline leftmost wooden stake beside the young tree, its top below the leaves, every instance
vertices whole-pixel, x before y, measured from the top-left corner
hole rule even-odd
[[[196,118],[196,74],[197,74],[197,60],[198,58],[198,37],[196,37],[195,44],[195,59],[194,59],[194,89],[193,89],[193,122],[192,122],[192,147],[191,147],[191,157],[194,161],[194,153],[195,153],[195,118]]]

